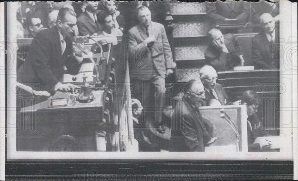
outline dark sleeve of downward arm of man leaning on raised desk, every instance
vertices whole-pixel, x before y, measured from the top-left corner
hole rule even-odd
[[[40,34],[37,34],[31,43],[30,56],[35,74],[44,83],[45,87],[52,88],[59,81],[49,65],[49,47],[49,42],[44,41],[43,38],[40,38]]]

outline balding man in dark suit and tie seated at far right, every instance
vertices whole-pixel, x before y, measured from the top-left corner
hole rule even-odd
[[[260,16],[263,31],[252,38],[252,59],[255,69],[279,69],[279,50],[275,50],[279,32],[269,13]]]

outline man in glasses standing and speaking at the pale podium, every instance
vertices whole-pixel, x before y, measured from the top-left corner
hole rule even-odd
[[[188,82],[190,89],[174,105],[169,151],[204,151],[217,138],[210,137],[198,106],[204,99],[204,86],[198,80]]]

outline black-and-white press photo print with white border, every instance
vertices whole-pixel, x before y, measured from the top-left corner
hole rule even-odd
[[[1,2],[0,32],[1,165],[297,165],[297,2]]]

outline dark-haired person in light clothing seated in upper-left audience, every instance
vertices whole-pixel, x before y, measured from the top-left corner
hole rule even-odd
[[[101,11],[97,14],[97,21],[103,31],[98,33],[99,36],[122,36],[123,33],[119,28],[115,28],[112,16],[105,11]]]

